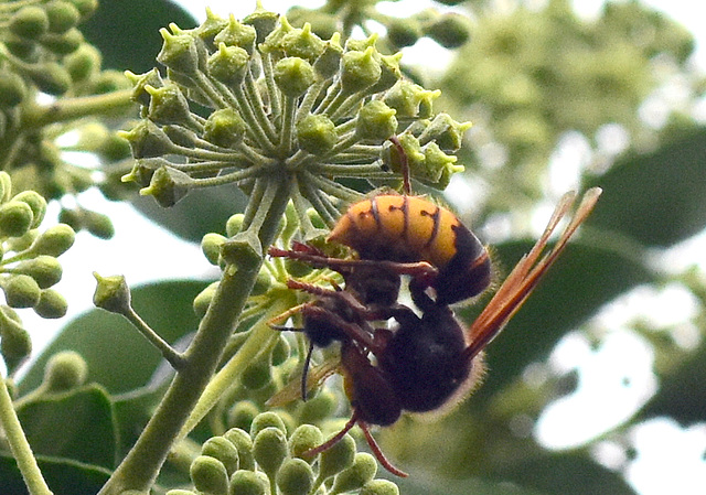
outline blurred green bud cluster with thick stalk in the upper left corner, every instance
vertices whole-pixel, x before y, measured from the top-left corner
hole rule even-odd
[[[115,71],[101,69],[101,56],[78,25],[97,8],[97,0],[3,2],[0,12],[0,154],[15,190],[34,190],[46,200],[76,195],[94,185],[92,171],[66,161],[62,151],[88,151],[111,162],[129,155],[125,140],[104,123],[58,117],[66,100],[125,89],[129,83]],[[41,94],[57,98],[53,114],[38,103]],[[49,111],[49,110],[46,110]],[[88,111],[86,111],[88,112]],[[51,126],[50,126],[51,125]],[[61,146],[72,132],[77,142]],[[65,141],[68,142],[68,141]],[[87,209],[68,211],[75,229],[109,237],[106,217]]]

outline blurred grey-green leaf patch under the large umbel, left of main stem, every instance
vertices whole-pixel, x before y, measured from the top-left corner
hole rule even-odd
[[[132,206],[179,237],[201,243],[210,232],[225,234],[225,224],[245,209],[246,196],[232,184],[191,191],[171,208],[163,208],[153,197],[136,196]]]

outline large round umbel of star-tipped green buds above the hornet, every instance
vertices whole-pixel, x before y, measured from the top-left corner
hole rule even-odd
[[[375,35],[341,45],[338,33],[324,40],[261,8],[243,21],[208,11],[193,30],[161,33],[167,71],[128,74],[143,118],[122,136],[138,159],[124,180],[163,206],[196,187],[250,193],[259,180],[282,180],[302,226],[310,205],[332,225],[341,203],[360,196],[338,180],[392,177],[385,150],[397,134],[429,185],[462,170],[452,153],[468,126],[436,115],[439,92],[404,79],[399,55],[382,55]],[[218,241],[206,241],[212,260]]]

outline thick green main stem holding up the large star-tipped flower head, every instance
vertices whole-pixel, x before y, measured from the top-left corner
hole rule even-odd
[[[268,187],[276,189],[274,201],[268,204],[263,222],[258,223],[256,234],[265,249],[275,240],[289,201],[289,185],[282,179],[270,177]],[[264,258],[264,252],[253,250],[252,243],[247,240],[236,238],[229,244],[228,259],[233,262],[226,266],[208,312],[184,353],[184,367],[174,377],[154,416],[99,495],[118,495],[127,489],[149,492],[180,430],[213,376]]]

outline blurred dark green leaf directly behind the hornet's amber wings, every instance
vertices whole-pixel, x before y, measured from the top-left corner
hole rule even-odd
[[[506,273],[531,247],[528,241],[494,246],[495,258]],[[566,332],[578,327],[601,305],[652,279],[653,272],[632,255],[623,256],[616,249],[587,243],[573,243],[503,333],[489,346],[486,362],[490,372],[477,394],[493,394],[516,377],[524,366],[544,359]],[[461,320],[472,321],[485,303],[483,300],[462,309]]]

